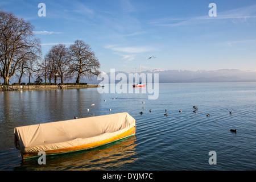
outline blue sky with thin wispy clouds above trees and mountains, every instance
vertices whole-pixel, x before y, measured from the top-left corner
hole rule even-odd
[[[46,4],[46,17],[38,4]],[[210,17],[209,3],[217,16]],[[1,0],[30,21],[43,55],[55,44],[84,40],[100,71],[147,69],[256,70],[256,1]],[[147,63],[150,56],[151,59]]]

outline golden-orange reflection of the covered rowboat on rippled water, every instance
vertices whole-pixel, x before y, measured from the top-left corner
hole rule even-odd
[[[39,165],[38,159],[23,160],[15,170],[114,170],[138,159],[136,146],[133,135],[90,150],[47,156],[46,165]]]

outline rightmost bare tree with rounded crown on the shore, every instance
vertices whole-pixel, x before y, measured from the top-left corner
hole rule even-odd
[[[75,44],[69,47],[70,64],[69,71],[76,75],[76,83],[79,83],[80,77],[91,78],[93,75],[99,75],[100,62],[88,44],[82,40],[76,40]]]

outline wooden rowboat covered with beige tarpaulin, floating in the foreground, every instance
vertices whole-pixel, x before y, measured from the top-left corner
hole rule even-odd
[[[135,135],[136,121],[128,113],[101,115],[19,126],[14,129],[15,147],[23,159],[85,150]]]

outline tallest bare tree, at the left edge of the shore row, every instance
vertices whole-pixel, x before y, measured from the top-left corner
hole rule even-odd
[[[0,10],[0,74],[4,84],[9,84],[27,57],[35,60],[40,56],[40,41],[34,38],[33,30],[30,22]]]

